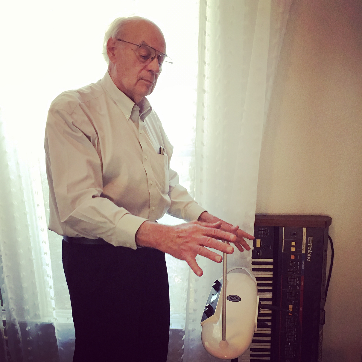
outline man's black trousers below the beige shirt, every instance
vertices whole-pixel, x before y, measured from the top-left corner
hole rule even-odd
[[[63,240],[63,267],[75,327],[73,362],[166,362],[170,314],[164,253]]]

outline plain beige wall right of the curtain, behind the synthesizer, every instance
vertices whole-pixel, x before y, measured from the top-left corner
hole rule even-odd
[[[262,143],[256,211],[332,217],[325,362],[361,361],[361,139],[362,1],[294,0]]]

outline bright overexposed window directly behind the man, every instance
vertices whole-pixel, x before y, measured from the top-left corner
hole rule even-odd
[[[7,142],[19,157],[39,165],[46,214],[48,189],[43,151],[51,101],[59,93],[96,82],[106,72],[101,54],[106,28],[117,17],[144,16],[163,31],[174,64],[164,64],[155,92],[148,97],[174,145],[171,167],[190,187],[197,87],[199,4],[184,1],[8,1],[2,4],[0,36],[0,108]],[[37,180],[36,182],[39,182]],[[161,223],[181,220],[166,215]],[[61,258],[61,237],[48,232],[58,315],[68,315],[70,300]],[[188,267],[167,256],[171,323],[184,320]],[[101,296],[97,296],[101,298]]]

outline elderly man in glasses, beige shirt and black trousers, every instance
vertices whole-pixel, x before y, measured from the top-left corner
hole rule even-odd
[[[165,253],[201,276],[197,254],[222,260],[205,247],[231,254],[228,243],[249,250],[243,237],[253,237],[202,209],[169,168],[172,146],[145,97],[167,61],[161,30],[119,18],[105,48],[103,79],[60,94],[46,125],[49,229],[64,239],[73,361],[166,361]],[[189,223],[156,223],[165,212]]]

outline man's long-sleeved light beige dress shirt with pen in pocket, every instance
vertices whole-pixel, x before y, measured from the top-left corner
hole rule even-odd
[[[169,167],[173,147],[148,100],[135,105],[108,72],[55,98],[44,146],[49,229],[59,235],[136,249],[145,220],[168,212],[191,221],[205,211]]]

